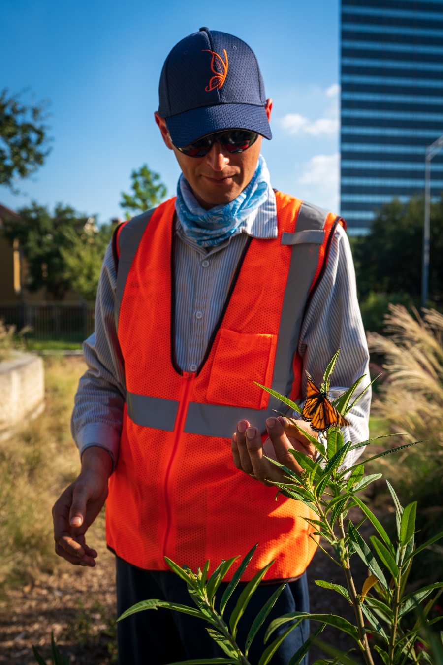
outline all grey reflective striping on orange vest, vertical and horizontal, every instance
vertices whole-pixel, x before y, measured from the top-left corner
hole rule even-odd
[[[135,217],[120,232],[121,251],[116,289],[117,325],[126,279],[141,236],[152,213],[153,210],[148,210],[143,215]],[[317,269],[319,247],[324,238],[323,229],[327,214],[326,210],[304,202],[300,206],[295,233],[282,234],[282,244],[292,245],[292,255],[278,331],[271,387],[276,392],[287,396],[290,395],[294,381],[292,363],[298,347],[306,301]],[[135,424],[173,432],[178,402],[133,393],[128,393],[127,401],[128,416]],[[236,430],[238,420],[246,419],[252,426],[263,432],[266,418],[276,416],[276,410],[286,413],[289,407],[272,395],[270,395],[268,408],[264,410],[190,402],[184,431],[187,434],[230,438]]]

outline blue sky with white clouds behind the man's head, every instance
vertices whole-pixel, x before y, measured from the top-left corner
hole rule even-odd
[[[123,216],[120,192],[143,163],[173,196],[179,168],[153,121],[158,80],[173,45],[205,25],[258,57],[274,100],[262,150],[272,185],[338,211],[337,0],[1,0],[0,22],[0,88],[48,98],[53,139],[43,168],[18,196],[0,187],[0,203],[62,201],[108,221]]]

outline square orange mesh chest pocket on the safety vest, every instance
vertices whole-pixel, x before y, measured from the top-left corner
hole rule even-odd
[[[207,388],[209,404],[265,409],[276,355],[276,334],[245,334],[222,328]]]

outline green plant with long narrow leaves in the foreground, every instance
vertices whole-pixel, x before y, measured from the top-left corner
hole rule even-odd
[[[338,351],[325,371],[321,384],[322,392],[329,390],[329,380],[337,361],[337,356]],[[358,394],[356,392],[362,379],[363,376],[357,379],[351,388],[346,390],[344,394],[333,402],[335,408],[343,416],[355,406],[365,392],[366,388]],[[269,388],[264,388],[264,390],[274,394],[274,396],[278,397],[282,402],[290,406],[290,408],[300,412],[298,405],[288,400],[288,398]],[[355,397],[355,394],[357,394],[357,397]],[[297,426],[296,420],[292,422]],[[306,436],[306,432],[304,434]],[[311,537],[314,539],[324,538],[331,545],[335,556],[329,554],[321,545],[319,547],[323,549],[327,557],[332,559],[343,570],[346,587],[324,580],[317,580],[316,584],[323,589],[330,589],[339,593],[351,604],[355,613],[355,624],[351,624],[345,618],[334,614],[309,614],[307,612],[285,614],[273,620],[268,626],[265,643],[277,628],[290,623],[288,628],[278,638],[274,639],[273,642],[264,648],[259,665],[266,665],[270,661],[270,658],[272,658],[272,655],[286,635],[304,619],[319,622],[320,625],[302,648],[294,654],[290,660],[290,665],[298,665],[302,661],[308,652],[311,642],[317,640],[317,635],[327,624],[351,636],[355,642],[357,651],[367,665],[374,664],[373,649],[371,649],[368,639],[369,630],[371,634],[377,636],[377,644],[375,644],[374,651],[377,654],[379,662],[383,662],[384,665],[405,665],[409,661],[417,662],[418,660],[424,660],[426,656],[423,654],[426,654],[426,651],[422,650],[420,654],[416,654],[414,648],[419,637],[422,642],[426,639],[420,636],[423,626],[428,628],[428,626],[441,618],[438,616],[428,619],[428,615],[436,599],[442,593],[443,583],[428,585],[411,595],[406,591],[406,581],[414,556],[442,538],[443,531],[420,545],[420,547],[414,549],[416,502],[414,501],[406,505],[406,507],[402,507],[393,487],[389,485],[397,518],[397,543],[392,543],[377,517],[358,496],[370,483],[379,479],[381,473],[372,473],[365,476],[365,466],[360,463],[351,466],[349,469],[343,466],[348,452],[371,444],[373,440],[354,445],[351,442],[345,443],[342,432],[336,428],[331,428],[323,432],[322,440],[317,440],[309,435],[308,438],[319,454],[315,462],[306,455],[296,450],[291,450],[292,455],[303,469],[301,475],[297,475],[288,467],[284,467],[278,462],[271,460],[273,464],[282,467],[288,481],[285,483],[274,483],[278,487],[276,499],[278,498],[278,494],[282,493],[286,497],[302,501],[310,507],[312,517],[306,519],[311,527],[313,527]],[[395,451],[414,446],[416,443],[418,442],[404,444],[397,448],[380,452],[371,456],[371,458],[365,461],[365,464]],[[358,506],[363,513],[363,519],[356,525],[350,519],[346,521],[347,511],[352,506]],[[373,535],[370,538],[371,547],[359,533],[361,525],[367,519],[372,523],[377,533],[377,535]],[[157,609],[159,607],[167,607],[172,610],[191,614],[211,624],[211,628],[208,628],[209,633],[216,640],[217,644],[221,646],[225,657],[209,658],[207,660],[187,660],[183,661],[183,664],[186,662],[188,664],[230,663],[231,665],[248,665],[248,648],[250,647],[250,642],[254,639],[258,628],[266,620],[266,616],[284,588],[284,585],[282,585],[260,612],[258,612],[250,628],[246,644],[238,645],[236,642],[238,621],[241,619],[244,608],[250,601],[260,580],[273,563],[270,562],[246,585],[230,614],[229,620],[225,620],[224,610],[226,602],[236,585],[238,585],[244,569],[254,553],[255,547],[252,548],[238,570],[234,573],[232,581],[228,585],[219,606],[216,604],[217,589],[222,579],[228,573],[232,563],[236,560],[236,557],[228,559],[228,561],[222,561],[209,578],[209,561],[205,563],[203,569],[198,569],[197,573],[193,573],[189,567],[183,566],[183,568],[180,568],[179,565],[170,559],[166,559],[171,570],[179,575],[187,584],[195,607],[177,605],[163,600],[145,600],[128,609],[118,620],[130,616],[134,612]],[[351,558],[354,555],[363,559],[368,569],[368,577],[361,591],[357,591],[351,570]],[[417,604],[423,603],[425,600],[426,604],[420,605],[422,619],[414,618],[414,608],[416,608]],[[365,620],[368,622],[368,629]],[[349,664],[356,661],[347,656],[347,654],[339,653],[335,654],[333,660],[317,660],[316,664],[323,665],[329,662]],[[175,663],[173,665],[183,664]]]

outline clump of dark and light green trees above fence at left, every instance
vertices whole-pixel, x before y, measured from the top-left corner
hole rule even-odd
[[[19,220],[4,221],[3,235],[11,244],[18,239],[23,247],[29,291],[45,288],[60,301],[66,291],[78,289],[79,295],[87,296],[85,299],[94,299],[110,227],[97,229],[93,217],[62,203],[51,213],[48,207],[33,201],[19,214]]]

